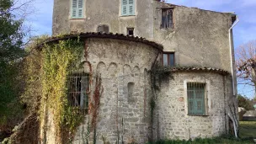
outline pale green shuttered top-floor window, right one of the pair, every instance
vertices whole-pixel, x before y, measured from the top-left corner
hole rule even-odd
[[[135,15],[135,4],[134,4],[135,0],[121,0],[122,2],[122,15]]]

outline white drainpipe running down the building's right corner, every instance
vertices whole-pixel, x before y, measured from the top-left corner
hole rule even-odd
[[[236,15],[237,17],[237,15]],[[234,77],[234,67],[233,67],[233,59],[232,59],[232,49],[233,49],[233,45],[232,45],[232,29],[234,26],[236,26],[236,24],[239,22],[239,19],[237,17],[236,22],[234,24],[232,24],[232,27],[230,29],[228,29],[228,33],[229,33],[229,46],[230,46],[230,63],[231,63],[231,68],[232,68],[232,87],[233,87],[233,95],[237,95],[237,90],[235,90],[235,77]]]

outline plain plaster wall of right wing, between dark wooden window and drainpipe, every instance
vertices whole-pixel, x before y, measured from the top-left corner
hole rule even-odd
[[[155,3],[154,40],[175,52],[177,66],[216,67],[231,72],[231,13],[174,6],[173,28],[160,29],[162,3]]]

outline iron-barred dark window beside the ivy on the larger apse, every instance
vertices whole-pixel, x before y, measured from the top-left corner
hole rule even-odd
[[[74,73],[68,77],[68,102],[72,107],[88,109],[88,91],[88,73]]]

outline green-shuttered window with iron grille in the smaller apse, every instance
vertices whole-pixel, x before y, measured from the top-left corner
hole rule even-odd
[[[205,83],[187,83],[189,115],[205,115]]]

